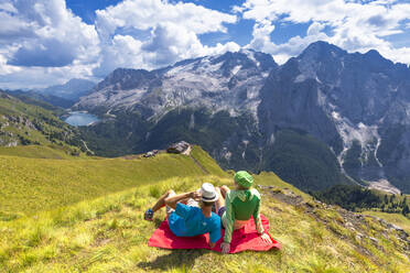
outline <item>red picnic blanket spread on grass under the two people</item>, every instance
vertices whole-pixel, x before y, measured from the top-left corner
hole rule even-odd
[[[262,220],[265,230],[268,231],[269,220],[263,215],[260,215],[260,218]],[[222,229],[222,238],[212,250],[217,252],[222,251],[220,243],[224,241],[224,236],[225,229]],[[271,239],[272,243],[266,243],[262,241],[262,239],[258,236],[255,221],[251,218],[244,228],[234,231],[229,253],[237,253],[245,250],[280,250],[282,248],[281,244],[273,240],[273,238]],[[208,233],[196,237],[177,237],[171,231],[170,226],[168,225],[168,219],[165,219],[161,226],[155,229],[148,242],[148,245],[163,249],[211,249]]]

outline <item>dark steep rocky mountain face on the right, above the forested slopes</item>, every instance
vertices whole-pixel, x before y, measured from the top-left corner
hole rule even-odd
[[[261,90],[261,130],[269,138],[287,127],[315,135],[356,181],[404,177],[410,174],[409,94],[406,65],[376,51],[348,54],[317,42],[269,76]]]

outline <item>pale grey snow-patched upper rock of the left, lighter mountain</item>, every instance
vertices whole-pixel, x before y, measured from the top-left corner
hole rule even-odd
[[[242,50],[187,59],[153,72],[117,70],[106,78],[107,84],[83,97],[76,107],[88,110],[94,106],[142,107],[152,112],[145,118],[154,120],[177,107],[205,107],[212,112],[226,110],[234,117],[250,112],[258,121],[259,91],[274,67],[270,55]],[[130,80],[141,77],[133,80],[138,88],[122,88],[127,86],[127,77]],[[110,84],[110,79],[119,84]]]

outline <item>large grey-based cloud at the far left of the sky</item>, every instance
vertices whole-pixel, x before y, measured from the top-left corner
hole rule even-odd
[[[0,24],[2,87],[63,83],[78,72],[91,76],[99,54],[97,31],[64,0],[0,0]]]

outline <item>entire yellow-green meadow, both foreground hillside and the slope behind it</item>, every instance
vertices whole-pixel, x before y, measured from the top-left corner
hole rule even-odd
[[[33,157],[0,156],[0,272],[407,273],[410,266],[397,231],[316,203],[273,173],[255,179],[281,251],[223,255],[148,247],[165,212],[150,222],[143,211],[163,192],[204,182],[233,186],[231,172],[197,146],[192,156]]]

